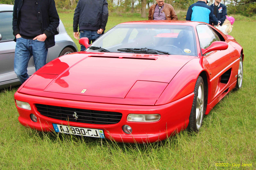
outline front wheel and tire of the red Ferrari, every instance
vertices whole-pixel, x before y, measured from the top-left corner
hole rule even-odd
[[[196,80],[194,89],[194,100],[189,116],[188,130],[197,132],[203,123],[206,107],[206,92],[204,88],[204,80],[199,76]]]

